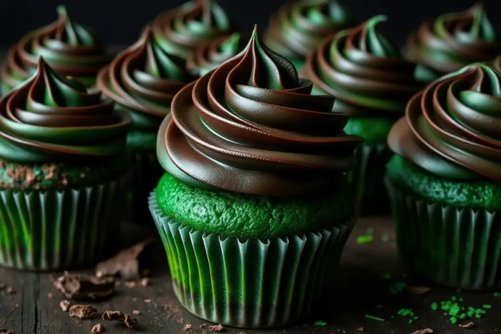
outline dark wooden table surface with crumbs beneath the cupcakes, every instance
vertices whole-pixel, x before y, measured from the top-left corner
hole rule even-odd
[[[357,241],[359,236],[367,233],[368,228],[374,230],[374,240],[367,243]],[[154,230],[139,229],[136,225],[127,225],[125,230],[122,239],[126,243],[155,233]],[[154,254],[158,260],[157,270],[152,272],[148,286],[130,288],[122,284],[111,299],[92,303],[99,312],[108,309],[117,309],[129,314],[132,314],[133,310],[141,311],[141,314],[136,315],[140,325],[137,330],[100,319],[70,318],[68,313],[59,307],[59,302],[65,298],[53,285],[55,277],[60,273],[37,274],[3,268],[0,268],[0,281],[12,287],[16,293],[8,294],[4,289],[0,294],[0,327],[15,329],[16,334],[84,334],[88,333],[94,324],[101,322],[106,333],[153,334],[186,332],[183,326],[191,324],[192,329],[187,331],[188,334],[208,332],[207,327],[200,328],[205,321],[185,311],[174,296],[165,253],[160,244]],[[324,307],[325,313],[314,314],[313,318],[305,323],[266,331],[230,327],[225,327],[224,331],[233,334],[242,331],[246,334],[336,334],[360,333],[359,328],[363,327],[365,333],[411,334],[424,328],[442,334],[490,334],[497,333],[498,329],[501,332],[501,298],[495,297],[493,291],[471,292],[437,287],[416,280],[401,271],[396,256],[392,224],[387,217],[362,218],[358,221],[341,259],[338,277],[332,283],[337,288],[335,294],[330,297],[329,304]],[[404,289],[405,285],[426,286],[432,289],[425,294],[416,295]],[[410,289],[413,290],[415,291]],[[462,297],[462,304],[466,307],[476,308],[489,304],[491,309],[481,318],[471,320],[474,327],[462,328],[459,324],[470,320],[460,320],[453,324],[449,320],[450,316],[430,307],[432,302],[440,304],[440,301],[449,300],[452,296]],[[145,302],[147,299],[151,301]],[[402,308],[412,309],[418,318],[409,324],[409,317],[398,314]],[[374,320],[366,315],[385,321]]]

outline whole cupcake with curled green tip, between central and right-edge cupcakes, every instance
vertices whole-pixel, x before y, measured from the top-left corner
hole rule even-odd
[[[358,206],[364,213],[389,211],[383,177],[391,157],[386,137],[404,114],[405,104],[422,85],[415,64],[378,31],[385,16],[326,39],[306,62],[304,73],[318,94],[336,97],[334,112],[350,115],[344,131],[364,138],[352,174]]]

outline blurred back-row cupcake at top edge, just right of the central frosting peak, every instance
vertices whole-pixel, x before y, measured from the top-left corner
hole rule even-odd
[[[265,43],[301,71],[308,53],[326,37],[355,26],[351,14],[336,0],[287,3],[272,16]]]

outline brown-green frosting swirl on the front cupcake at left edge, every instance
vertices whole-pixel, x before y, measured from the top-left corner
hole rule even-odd
[[[0,100],[0,157],[20,162],[106,158],[125,145],[132,120],[42,57],[36,74]]]

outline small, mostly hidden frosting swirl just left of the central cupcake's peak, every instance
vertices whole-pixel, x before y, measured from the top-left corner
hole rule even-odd
[[[244,47],[240,33],[200,44],[188,56],[186,68],[191,74],[201,77],[236,56]]]

